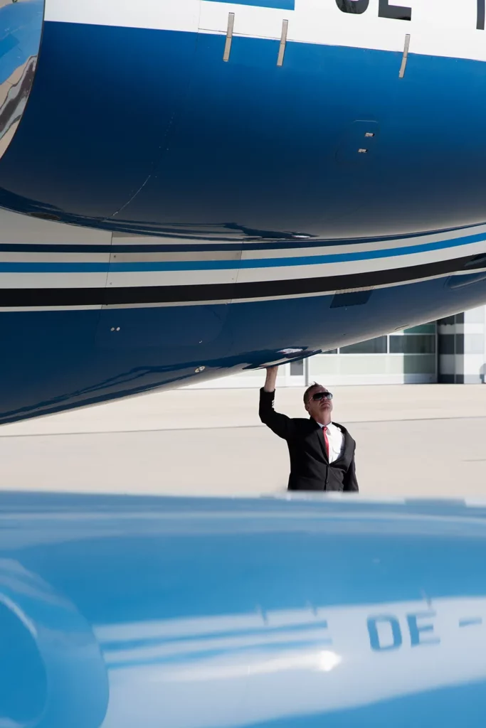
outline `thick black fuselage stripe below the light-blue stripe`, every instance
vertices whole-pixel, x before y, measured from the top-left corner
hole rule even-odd
[[[467,266],[484,267],[477,256],[436,261],[420,266],[381,271],[247,283],[208,283],[197,285],[136,286],[124,288],[3,288],[0,306],[116,306],[123,304],[167,304],[181,301],[227,301],[240,298],[273,298],[309,293],[334,293],[353,288],[373,288],[393,283],[406,283],[458,272]],[[472,263],[472,265],[471,265]],[[469,264],[469,265],[468,265]]]

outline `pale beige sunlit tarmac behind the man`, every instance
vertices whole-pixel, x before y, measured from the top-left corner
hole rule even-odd
[[[263,376],[262,376],[263,381]],[[361,494],[486,500],[486,387],[333,387],[357,442]],[[305,416],[303,389],[275,408]],[[257,389],[179,389],[0,427],[5,490],[273,494],[286,443],[258,417]]]

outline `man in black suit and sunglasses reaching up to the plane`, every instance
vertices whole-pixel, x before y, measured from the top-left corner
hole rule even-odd
[[[356,443],[345,427],[331,421],[332,394],[321,384],[305,391],[310,419],[291,419],[273,409],[278,367],[267,368],[260,389],[260,419],[287,441],[290,491],[358,492],[354,454]]]

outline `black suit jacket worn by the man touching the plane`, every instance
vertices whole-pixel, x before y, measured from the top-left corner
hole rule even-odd
[[[334,422],[344,435],[340,457],[332,463],[326,452],[324,433],[314,419],[291,419],[273,409],[275,392],[260,389],[260,419],[287,441],[290,454],[290,491],[358,491],[354,454],[356,443],[345,427]]]

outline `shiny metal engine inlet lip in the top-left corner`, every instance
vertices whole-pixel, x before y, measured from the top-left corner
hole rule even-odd
[[[0,157],[12,141],[34,83],[44,0],[0,0]]]

